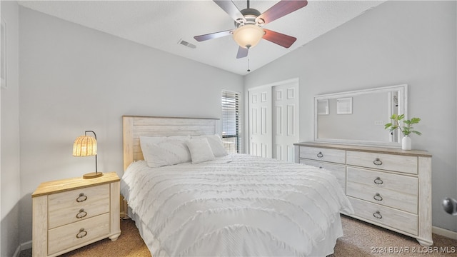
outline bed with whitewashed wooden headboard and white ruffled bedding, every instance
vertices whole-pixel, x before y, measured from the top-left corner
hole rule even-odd
[[[336,178],[312,166],[226,154],[215,138],[218,124],[217,119],[123,116],[121,194],[151,254],[333,253],[343,236],[339,213],[353,213]],[[176,148],[181,141],[187,148]],[[190,160],[176,163],[183,149]],[[171,155],[151,157],[167,151]]]

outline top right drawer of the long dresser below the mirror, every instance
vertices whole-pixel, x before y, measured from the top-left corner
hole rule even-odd
[[[398,171],[411,174],[417,174],[418,171],[417,156],[346,151],[346,162],[348,165],[378,168],[385,171]]]

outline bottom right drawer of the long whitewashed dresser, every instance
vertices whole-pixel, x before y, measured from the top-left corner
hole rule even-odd
[[[418,235],[418,216],[375,203],[348,197],[358,218],[388,226],[394,230]]]

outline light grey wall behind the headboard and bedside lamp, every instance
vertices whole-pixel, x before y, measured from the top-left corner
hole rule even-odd
[[[21,242],[40,182],[94,170],[71,156],[85,130],[97,133],[99,171],[121,176],[122,115],[220,118],[221,90],[243,91],[241,76],[23,7],[19,32]]]

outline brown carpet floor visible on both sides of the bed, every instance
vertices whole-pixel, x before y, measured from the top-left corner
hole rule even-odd
[[[362,256],[453,256],[457,257],[457,241],[433,234],[433,246],[422,247],[416,239],[388,231],[377,226],[343,216],[344,236],[336,242],[335,253],[330,257]],[[148,257],[148,248],[139,236],[134,221],[121,221],[121,236],[117,241],[109,239],[92,243],[63,256],[91,257]],[[380,253],[380,251],[382,251]],[[21,252],[20,257],[31,257],[31,249]]]

